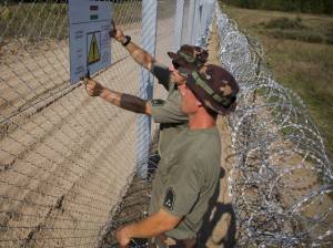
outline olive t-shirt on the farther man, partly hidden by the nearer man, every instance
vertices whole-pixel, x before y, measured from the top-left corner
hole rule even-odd
[[[162,157],[169,143],[186,126],[188,116],[181,111],[181,96],[175,84],[170,81],[169,69],[155,62],[151,72],[169,92],[167,100],[154,99],[150,102],[151,116],[155,123],[160,123],[158,148]]]

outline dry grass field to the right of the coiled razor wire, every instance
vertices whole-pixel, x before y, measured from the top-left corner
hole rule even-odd
[[[279,83],[296,92],[333,158],[333,18],[279,11],[223,9],[264,46]]]

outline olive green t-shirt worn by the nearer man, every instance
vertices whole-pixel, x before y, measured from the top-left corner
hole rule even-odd
[[[150,214],[163,209],[182,217],[167,236],[194,238],[220,176],[221,142],[216,127],[183,130],[168,146],[153,180]]]

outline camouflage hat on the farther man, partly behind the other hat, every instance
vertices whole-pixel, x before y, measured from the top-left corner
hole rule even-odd
[[[182,69],[193,71],[206,62],[209,53],[200,46],[183,44],[176,53],[168,52],[168,55],[179,65],[180,71]]]

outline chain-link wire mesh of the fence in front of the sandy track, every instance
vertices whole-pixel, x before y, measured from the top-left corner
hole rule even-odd
[[[112,4],[140,44],[142,1]],[[159,6],[165,61],[175,1]],[[0,247],[94,247],[135,174],[135,115],[69,83],[67,1],[1,1],[0,17]],[[139,75],[112,41],[112,64],[95,80],[137,94]]]

